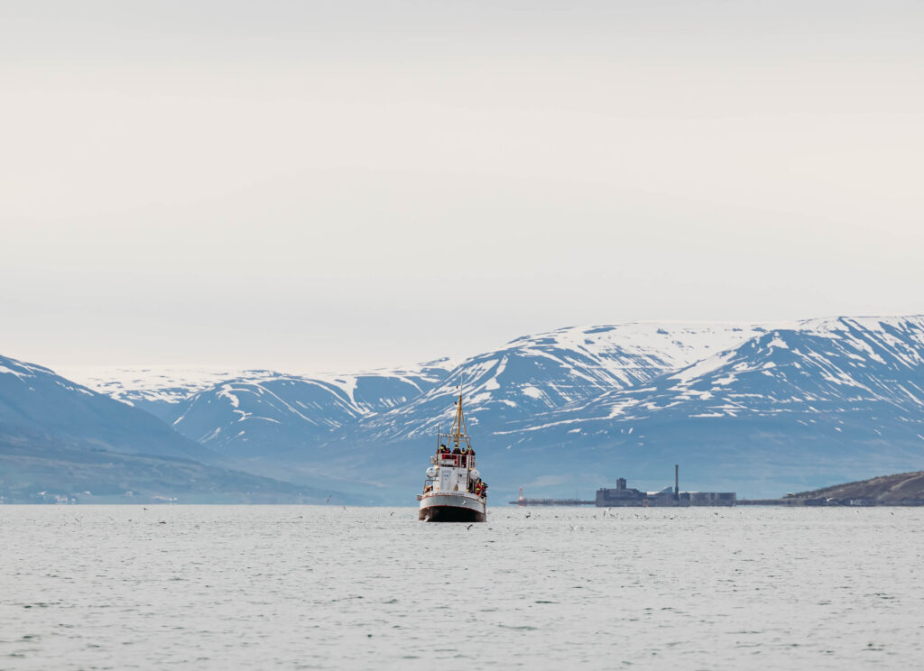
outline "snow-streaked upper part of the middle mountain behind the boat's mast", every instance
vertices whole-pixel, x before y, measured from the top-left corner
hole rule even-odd
[[[452,421],[460,384],[473,429],[500,430],[537,413],[635,387],[763,331],[740,324],[633,322],[517,338],[466,359],[407,404],[362,418],[359,435],[377,441],[432,435],[438,423]]]

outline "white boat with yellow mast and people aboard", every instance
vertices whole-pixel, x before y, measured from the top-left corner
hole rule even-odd
[[[436,430],[436,454],[430,458],[423,483],[420,521],[485,521],[488,485],[475,468],[475,450],[468,438],[462,412],[462,393],[456,400],[456,419],[448,434]]]

